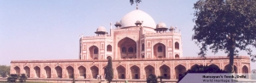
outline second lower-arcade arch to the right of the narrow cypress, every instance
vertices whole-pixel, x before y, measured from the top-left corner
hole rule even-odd
[[[131,78],[140,79],[140,68],[137,65],[131,66]]]

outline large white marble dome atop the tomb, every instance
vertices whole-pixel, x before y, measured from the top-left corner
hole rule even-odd
[[[140,20],[141,22],[143,21],[143,26],[155,28],[154,19],[142,10],[133,10],[130,13],[125,14],[120,20],[120,24],[122,25],[122,28],[136,26],[135,23],[137,20]]]

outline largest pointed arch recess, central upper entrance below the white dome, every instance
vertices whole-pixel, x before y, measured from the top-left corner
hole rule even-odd
[[[119,58],[137,58],[137,43],[131,38],[120,40],[118,49]]]

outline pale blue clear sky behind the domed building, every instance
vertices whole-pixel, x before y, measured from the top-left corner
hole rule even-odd
[[[182,31],[183,56],[196,57],[191,39],[196,0],[143,0],[139,9],[156,23]],[[129,0],[1,0],[0,64],[11,60],[78,59],[79,36],[95,36],[99,26],[110,29],[136,9]],[[207,56],[226,56],[224,52]],[[248,56],[241,52],[240,55]],[[255,63],[251,64],[256,69]]]

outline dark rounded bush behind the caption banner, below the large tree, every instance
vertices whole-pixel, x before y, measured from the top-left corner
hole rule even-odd
[[[185,72],[183,75],[181,75],[177,80],[177,82],[182,80],[183,77],[188,73],[228,73],[228,72],[224,71],[223,69],[219,69],[217,66],[196,65],[191,69],[189,69],[187,72]]]

